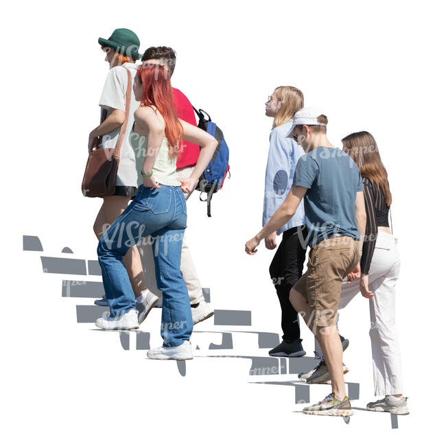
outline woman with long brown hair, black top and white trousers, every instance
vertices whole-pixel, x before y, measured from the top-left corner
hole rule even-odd
[[[375,395],[384,395],[384,398],[368,403],[367,409],[406,415],[409,410],[407,398],[403,397],[395,324],[395,285],[400,259],[388,222],[392,194],[387,171],[375,138],[369,132],[349,134],[342,139],[342,144],[344,152],[351,156],[361,172],[367,224],[360,264],[342,284],[338,308],[344,308],[358,292],[368,298]],[[322,360],[319,369],[325,367]]]

